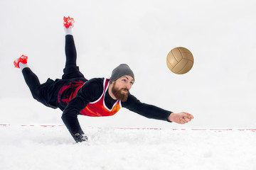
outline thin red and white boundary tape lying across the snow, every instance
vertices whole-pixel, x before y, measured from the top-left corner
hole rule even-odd
[[[0,126],[11,126],[9,124],[0,124]],[[47,128],[47,127],[63,127],[64,125],[18,125],[18,126],[26,126],[26,127],[33,127],[33,126],[41,126],[41,127],[44,127],[44,128]],[[162,128],[112,128],[112,129],[121,129],[121,130],[161,130]],[[223,132],[223,131],[235,131],[235,130],[239,130],[239,131],[252,131],[252,132],[256,132],[256,128],[238,128],[238,129],[233,129],[233,128],[221,128],[221,129],[218,129],[218,128],[198,128],[198,129],[195,129],[195,128],[192,128],[192,129],[168,129],[168,130],[181,130],[181,131],[184,131],[184,130],[193,130],[193,131],[207,131],[207,130],[210,130],[210,131],[218,131],[218,132]]]

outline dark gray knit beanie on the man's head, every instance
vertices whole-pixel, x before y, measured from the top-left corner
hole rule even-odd
[[[115,69],[113,69],[111,77],[110,77],[110,84],[119,79],[120,77],[123,77],[125,75],[128,75],[134,79],[134,74],[132,72],[132,69],[129,68],[127,64],[120,64]]]

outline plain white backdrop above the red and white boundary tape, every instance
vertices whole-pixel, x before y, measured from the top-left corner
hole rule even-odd
[[[127,63],[131,93],[144,103],[186,111],[188,125],[149,120],[125,108],[110,118],[81,117],[81,125],[235,128],[255,127],[255,1],[14,1],[0,2],[0,113],[7,124],[62,124],[61,111],[34,101],[13,61],[43,83],[65,64],[63,16],[75,18],[78,65],[87,79],[110,77]],[[190,72],[166,66],[174,47],[193,53]]]

